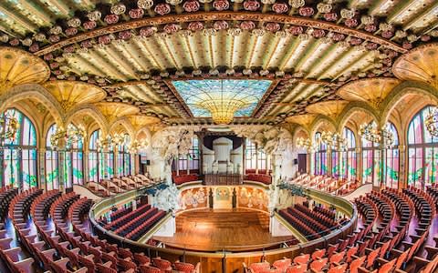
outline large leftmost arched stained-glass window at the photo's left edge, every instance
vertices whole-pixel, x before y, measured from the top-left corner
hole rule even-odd
[[[19,126],[15,139],[5,139],[0,148],[0,187],[21,187],[24,190],[37,187],[35,126],[15,108],[6,110],[1,116],[15,117]]]

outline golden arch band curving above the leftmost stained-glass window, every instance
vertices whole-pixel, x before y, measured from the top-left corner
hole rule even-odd
[[[0,96],[0,113],[5,112],[5,109],[8,107],[14,106],[16,102],[28,99],[35,99],[46,106],[47,111],[53,116],[58,126],[64,124],[66,115],[55,96],[50,94],[46,88],[37,84],[14,86],[4,95]]]

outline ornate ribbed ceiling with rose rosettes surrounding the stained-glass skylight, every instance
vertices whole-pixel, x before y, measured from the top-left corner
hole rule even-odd
[[[163,124],[209,124],[210,117],[193,115],[175,81],[263,80],[271,83],[266,92],[234,123],[330,116],[345,103],[323,102],[342,97],[374,106],[387,95],[384,86],[367,92],[372,83],[345,86],[361,78],[395,75],[438,86],[435,62],[416,62],[436,60],[436,47],[402,56],[437,40],[437,11],[434,0],[5,0],[0,45],[11,49],[0,56],[0,86],[47,77],[84,82],[106,96],[96,89],[99,96],[75,99],[99,98],[107,118],[138,113]],[[16,55],[14,47],[34,56]],[[46,64],[27,66],[36,56]],[[61,93],[58,99],[72,99]]]

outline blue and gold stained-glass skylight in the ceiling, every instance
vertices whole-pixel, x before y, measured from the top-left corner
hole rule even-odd
[[[259,100],[271,86],[270,80],[208,79],[173,81],[195,117],[232,111],[234,116],[251,116]]]

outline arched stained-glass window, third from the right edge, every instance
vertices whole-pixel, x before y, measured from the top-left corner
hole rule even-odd
[[[380,186],[381,182],[381,150],[378,144],[368,141],[362,136],[362,183],[373,183]]]

